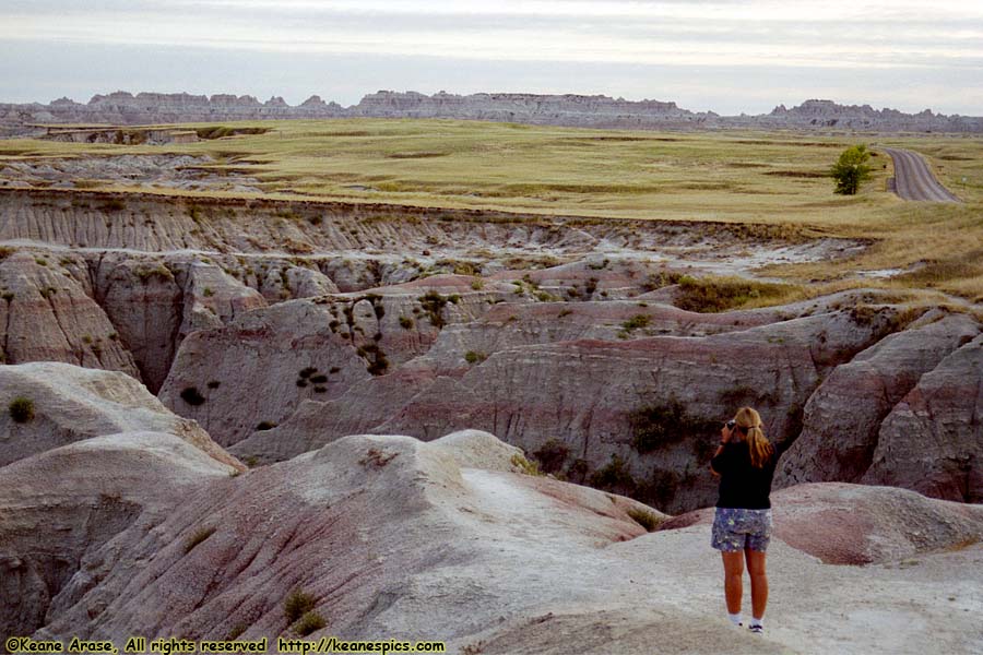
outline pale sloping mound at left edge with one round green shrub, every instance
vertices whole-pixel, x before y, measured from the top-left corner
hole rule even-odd
[[[7,408],[31,405],[20,418]],[[57,362],[0,366],[0,466],[116,432],[166,432],[225,466],[242,469],[193,420],[175,416],[131,377]]]

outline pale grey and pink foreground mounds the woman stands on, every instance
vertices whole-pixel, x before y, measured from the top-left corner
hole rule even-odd
[[[852,485],[775,493],[760,638],[724,617],[704,513],[667,521],[525,469],[521,451],[473,430],[351,436],[235,476],[159,432],[38,453],[0,467],[2,629],[120,646],[291,638],[285,604],[300,592],[322,621],[308,639],[440,640],[450,653],[983,644],[976,507]]]

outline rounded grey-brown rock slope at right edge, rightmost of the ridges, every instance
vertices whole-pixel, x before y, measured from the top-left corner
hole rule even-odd
[[[956,349],[885,418],[865,484],[983,502],[983,335]]]

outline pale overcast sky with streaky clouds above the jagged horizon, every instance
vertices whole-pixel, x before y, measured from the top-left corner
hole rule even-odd
[[[0,0],[0,102],[380,88],[980,116],[983,0]]]

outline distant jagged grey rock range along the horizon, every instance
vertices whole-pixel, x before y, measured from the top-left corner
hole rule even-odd
[[[583,128],[619,129],[837,129],[886,132],[981,132],[983,118],[945,116],[925,109],[904,114],[896,109],[874,109],[869,105],[838,105],[832,100],[806,100],[797,107],[775,107],[767,115],[720,116],[713,111],[692,112],[675,103],[625,100],[603,95],[537,95],[523,93],[477,93],[457,95],[379,91],[357,105],[344,108],[311,96],[292,107],[283,98],[260,103],[252,96],[194,96],[185,93],[126,92],[95,95],[86,104],[60,98],[48,105],[0,104],[0,130],[8,134],[29,133],[42,123],[150,124],[262,119],[312,119],[342,117],[454,118],[519,123],[541,123]]]

